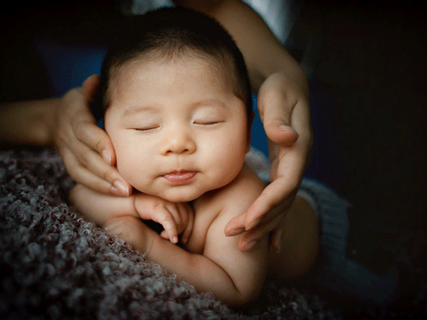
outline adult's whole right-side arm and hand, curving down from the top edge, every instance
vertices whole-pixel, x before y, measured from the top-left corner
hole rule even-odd
[[[206,2],[209,2],[206,3]],[[226,234],[245,230],[239,247],[275,230],[280,249],[285,213],[295,198],[310,161],[312,129],[307,78],[300,65],[275,38],[258,14],[239,0],[181,1],[184,6],[214,16],[241,49],[251,85],[258,92],[258,111],[268,137],[270,185],[243,215],[226,226]]]

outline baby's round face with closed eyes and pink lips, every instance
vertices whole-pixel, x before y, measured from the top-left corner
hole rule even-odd
[[[105,129],[117,169],[137,190],[191,201],[241,171],[245,105],[218,70],[201,58],[137,60],[112,79]]]

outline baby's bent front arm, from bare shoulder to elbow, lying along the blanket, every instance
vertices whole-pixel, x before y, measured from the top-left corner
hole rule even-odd
[[[199,292],[212,292],[216,299],[230,306],[243,306],[258,296],[263,285],[268,238],[264,237],[250,251],[241,252],[238,250],[239,237],[226,237],[223,230],[231,217],[244,212],[251,205],[262,187],[260,183],[258,190],[256,183],[252,183],[251,186],[241,188],[240,192],[234,188],[233,192],[216,196],[212,200],[223,205],[218,206],[221,212],[207,231],[203,254],[187,252],[160,238],[143,224],[132,227],[138,221],[129,221],[126,227],[122,225],[117,228],[117,235],[123,237],[123,230],[135,228],[135,233],[139,233],[137,238],[146,241],[131,244],[144,252],[149,260],[164,266],[179,279],[193,284]],[[199,214],[204,213],[198,211],[196,215]]]

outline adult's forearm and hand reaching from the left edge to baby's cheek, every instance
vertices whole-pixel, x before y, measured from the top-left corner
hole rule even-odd
[[[0,106],[0,144],[56,146],[71,178],[96,191],[129,196],[132,187],[115,168],[107,133],[96,126],[89,103],[99,78],[91,76],[63,97]]]

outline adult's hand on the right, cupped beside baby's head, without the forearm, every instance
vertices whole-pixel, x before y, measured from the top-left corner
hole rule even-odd
[[[271,245],[280,250],[285,214],[310,162],[312,130],[308,92],[283,73],[270,75],[258,92],[258,111],[269,141],[270,184],[243,215],[226,225],[226,235],[244,233],[241,251],[274,230]],[[246,232],[245,232],[246,231]]]

